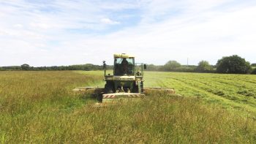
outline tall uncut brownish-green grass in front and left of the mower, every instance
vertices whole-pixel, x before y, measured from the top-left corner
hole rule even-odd
[[[95,107],[73,94],[102,77],[73,72],[0,74],[0,143],[254,143],[256,122],[195,97],[154,94]],[[2,87],[1,87],[2,88]]]

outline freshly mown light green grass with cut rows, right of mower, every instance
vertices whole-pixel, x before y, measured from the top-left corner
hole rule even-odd
[[[183,96],[196,96],[244,114],[256,114],[256,75],[148,72],[146,80],[148,86],[173,87]]]

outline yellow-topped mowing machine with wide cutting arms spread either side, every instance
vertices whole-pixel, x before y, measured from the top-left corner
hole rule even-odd
[[[104,88],[78,87],[73,91],[84,91],[97,96],[99,102],[110,99],[139,98],[151,93],[151,91],[165,91],[175,94],[171,88],[144,88],[144,69],[146,64],[135,63],[135,56],[125,53],[114,54],[113,75],[106,74],[106,64],[103,61]]]

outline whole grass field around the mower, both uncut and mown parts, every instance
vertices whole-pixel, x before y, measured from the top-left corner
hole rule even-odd
[[[182,96],[94,107],[71,90],[103,86],[102,72],[0,72],[0,143],[255,143],[255,75],[145,77]]]

